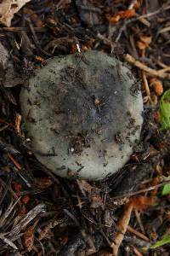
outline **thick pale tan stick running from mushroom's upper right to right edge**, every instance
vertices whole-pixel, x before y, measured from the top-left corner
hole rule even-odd
[[[144,72],[150,74],[150,76],[152,77],[158,77],[159,79],[170,79],[170,74],[166,73],[166,71],[169,70],[168,68],[163,68],[161,70],[155,70],[153,68],[147,67],[146,65],[144,65],[143,63],[141,63],[140,61],[136,61],[132,55],[126,55],[125,56],[125,60],[132,64],[135,67],[139,67],[139,69],[143,70]]]

